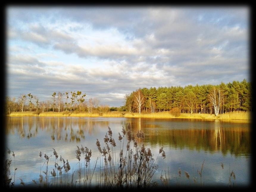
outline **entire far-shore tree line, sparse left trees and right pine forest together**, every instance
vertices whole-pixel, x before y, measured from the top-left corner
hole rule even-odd
[[[39,101],[38,97],[21,94],[18,99],[6,97],[6,113],[11,112],[108,112],[127,111],[155,113],[176,109],[179,113],[220,113],[252,110],[252,86],[244,79],[219,85],[188,85],[185,87],[139,88],[124,97],[124,106],[100,105],[99,99],[85,101],[86,94],[77,92],[54,92],[51,99]]]

